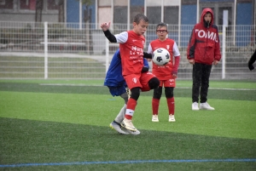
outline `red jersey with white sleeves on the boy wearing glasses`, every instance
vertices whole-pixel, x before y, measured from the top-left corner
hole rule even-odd
[[[160,41],[156,39],[149,43],[148,53],[153,54],[154,50],[157,48],[166,48],[170,53],[171,60],[166,66],[157,66],[152,62],[152,73],[158,77],[160,80],[166,80],[172,78],[172,68],[173,68],[173,56],[179,56],[179,50],[177,48],[177,44],[174,40],[170,38],[166,38],[165,41]]]

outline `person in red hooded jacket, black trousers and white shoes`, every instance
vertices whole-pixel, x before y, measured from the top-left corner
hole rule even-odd
[[[187,59],[193,65],[192,110],[214,110],[207,103],[209,77],[212,64],[217,65],[221,59],[218,38],[218,26],[213,25],[212,9],[203,9],[200,23],[191,33],[187,48]],[[199,102],[200,94],[200,105]]]

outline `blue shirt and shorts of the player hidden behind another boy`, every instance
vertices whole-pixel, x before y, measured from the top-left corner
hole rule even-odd
[[[143,58],[144,67],[148,67],[148,60]],[[108,86],[113,96],[119,96],[126,92],[125,79],[122,76],[121,56],[119,49],[113,54],[110,66],[105,77],[104,86]]]

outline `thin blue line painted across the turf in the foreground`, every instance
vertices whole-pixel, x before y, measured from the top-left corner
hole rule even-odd
[[[129,164],[147,162],[256,162],[256,158],[244,159],[201,159],[201,160],[134,160],[134,161],[109,161],[109,162],[49,162],[49,163],[20,163],[3,164],[0,168],[19,168],[30,166],[67,166],[67,165],[90,165],[90,164]]]

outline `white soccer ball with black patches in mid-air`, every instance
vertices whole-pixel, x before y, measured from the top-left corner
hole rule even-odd
[[[152,61],[157,66],[166,66],[170,60],[170,54],[166,48],[157,48],[152,54]]]

